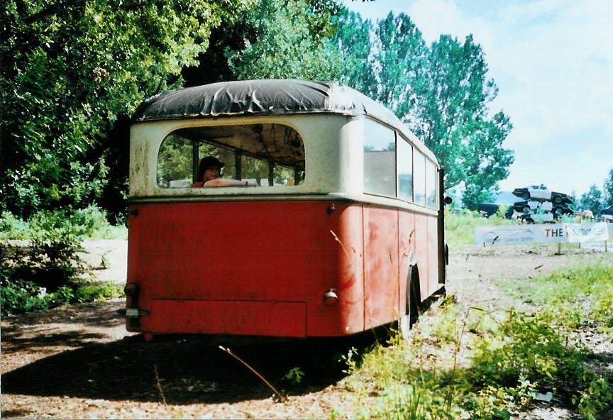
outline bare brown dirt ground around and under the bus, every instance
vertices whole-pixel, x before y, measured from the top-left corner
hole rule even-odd
[[[99,278],[125,282],[125,242],[88,243],[85,255]],[[557,247],[471,247],[450,256],[447,290],[463,304],[492,309],[509,299],[493,281],[531,277],[585,260],[611,258]],[[103,258],[104,257],[104,258]],[[122,299],[67,306],[1,320],[1,416],[79,419],[328,419],[350,417],[352,394],[339,367],[309,370],[322,343],[225,343],[281,394],[219,348],[219,338],[168,337],[145,342],[127,333]],[[427,316],[427,314],[426,314]],[[590,335],[588,346],[609,355],[613,343]],[[347,343],[324,343],[342,351]],[[328,350],[334,351],[334,350]],[[283,379],[293,367],[304,380]],[[556,401],[535,405],[519,419],[575,419]]]

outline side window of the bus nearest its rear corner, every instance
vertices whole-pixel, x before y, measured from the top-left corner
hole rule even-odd
[[[396,197],[396,136],[393,130],[364,124],[364,192]]]

